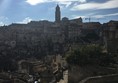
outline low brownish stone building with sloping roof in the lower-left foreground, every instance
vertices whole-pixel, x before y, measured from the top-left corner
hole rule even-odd
[[[18,66],[20,73],[34,74],[47,70],[45,64],[38,60],[21,60],[18,62]]]

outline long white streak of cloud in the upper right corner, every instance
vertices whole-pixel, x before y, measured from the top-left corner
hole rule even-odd
[[[71,10],[88,10],[88,9],[111,9],[118,8],[118,0],[108,0],[104,3],[88,2],[75,5]]]

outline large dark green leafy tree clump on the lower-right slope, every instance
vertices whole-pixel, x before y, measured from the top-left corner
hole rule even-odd
[[[66,53],[66,60],[74,65],[108,65],[114,63],[113,56],[104,53],[99,45],[86,45]]]

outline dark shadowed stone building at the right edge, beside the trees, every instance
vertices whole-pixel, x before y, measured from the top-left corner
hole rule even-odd
[[[118,53],[118,21],[103,24],[103,41],[108,52]]]

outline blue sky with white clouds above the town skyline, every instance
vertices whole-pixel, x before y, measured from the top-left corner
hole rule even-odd
[[[59,4],[61,18],[83,18],[83,22],[118,20],[118,0],[0,0],[0,26],[11,23],[55,20]]]

